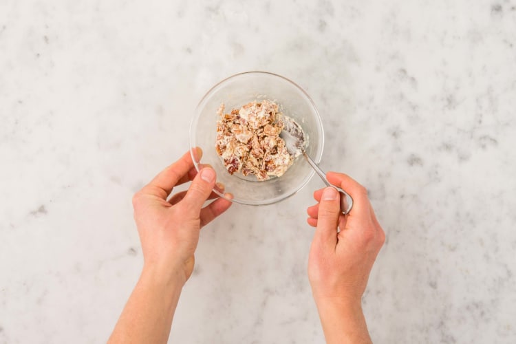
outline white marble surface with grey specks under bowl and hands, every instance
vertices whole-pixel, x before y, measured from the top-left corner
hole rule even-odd
[[[516,342],[516,1],[0,0],[0,343],[101,343],[142,266],[131,195],[218,80],[266,70],[323,116],[324,169],[387,242],[376,343]],[[206,228],[171,343],[322,343],[313,179]]]

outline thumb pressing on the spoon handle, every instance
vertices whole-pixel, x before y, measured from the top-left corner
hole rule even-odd
[[[321,196],[319,212],[317,213],[317,228],[315,235],[321,244],[336,246],[338,217],[341,215],[341,206],[338,192],[335,188],[327,187]]]

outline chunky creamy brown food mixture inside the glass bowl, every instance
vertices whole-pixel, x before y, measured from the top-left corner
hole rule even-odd
[[[257,180],[280,177],[296,156],[288,153],[279,137],[284,123],[278,105],[272,101],[253,101],[240,109],[217,114],[217,154],[230,174],[255,175]]]

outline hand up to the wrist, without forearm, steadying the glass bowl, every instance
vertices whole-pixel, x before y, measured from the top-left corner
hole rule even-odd
[[[201,149],[195,153],[200,159]],[[144,271],[157,272],[165,279],[179,279],[183,284],[189,279],[200,228],[231,205],[212,192],[215,180],[215,171],[209,166],[197,173],[190,152],[186,152],[133,196]],[[188,191],[177,193],[167,201],[175,186],[189,181]],[[206,200],[213,199],[216,200],[202,208]]]

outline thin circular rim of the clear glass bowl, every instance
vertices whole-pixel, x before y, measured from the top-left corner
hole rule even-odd
[[[323,121],[321,120],[321,115],[319,115],[319,111],[317,110],[317,107],[315,106],[314,100],[312,100],[312,98],[303,89],[303,87],[299,86],[297,83],[294,83],[294,81],[290,80],[289,78],[286,78],[285,76],[281,76],[279,74],[275,74],[275,73],[272,73],[272,72],[264,72],[264,71],[256,70],[256,71],[240,72],[240,73],[233,74],[231,76],[228,76],[228,77],[220,80],[218,83],[213,85],[210,89],[208,89],[208,91],[204,94],[204,96],[202,96],[202,98],[199,101],[199,103],[197,103],[197,106],[195,107],[194,116],[193,116],[193,118],[192,118],[192,120],[190,122],[190,131],[189,131],[189,134],[190,134],[190,140],[189,140],[190,141],[190,155],[191,155],[193,164],[194,164],[195,169],[197,170],[197,172],[200,171],[200,166],[199,166],[200,162],[197,162],[197,158],[195,157],[194,150],[195,150],[196,147],[194,147],[192,133],[193,133],[193,130],[195,129],[193,127],[193,125],[197,122],[199,114],[200,114],[200,107],[201,107],[201,105],[205,102],[206,98],[208,98],[208,96],[215,89],[217,89],[220,85],[222,85],[223,83],[226,83],[226,81],[228,81],[230,79],[237,78],[239,76],[244,76],[244,75],[247,75],[247,74],[266,74],[268,76],[274,76],[274,77],[277,77],[277,78],[281,78],[281,79],[285,80],[287,83],[290,83],[294,87],[299,89],[299,91],[301,91],[301,93],[308,99],[308,101],[310,102],[310,104],[312,105],[312,107],[314,109],[314,113],[316,115],[316,121],[319,123],[319,127],[321,128],[321,153],[319,154],[319,156],[316,156],[315,158],[310,157],[310,158],[312,158],[314,160],[314,162],[316,164],[319,164],[319,162],[321,162],[321,158],[323,157],[323,151],[324,151],[324,128],[323,128]],[[275,204],[275,203],[281,202],[283,200],[286,200],[286,199],[292,197],[293,195],[295,195],[296,193],[299,193],[299,191],[301,191],[301,189],[303,189],[306,186],[306,184],[308,184],[308,182],[310,182],[310,180],[312,180],[312,177],[314,176],[314,173],[315,173],[314,169],[311,169],[310,173],[308,173],[308,178],[305,178],[303,183],[296,190],[294,190],[292,193],[283,195],[283,197],[279,197],[277,199],[272,199],[272,200],[266,201],[266,202],[252,202],[252,201],[251,202],[246,202],[245,200],[239,200],[238,198],[234,199],[234,198],[231,198],[231,197],[227,197],[226,193],[223,193],[223,192],[221,192],[221,191],[219,191],[217,189],[217,186],[215,186],[213,188],[213,192],[216,193],[217,195],[219,195],[220,197],[230,201],[230,202],[234,202],[234,203],[238,203],[238,204],[244,204],[244,205],[247,205],[247,206],[267,206],[267,205],[270,205],[270,204]]]

